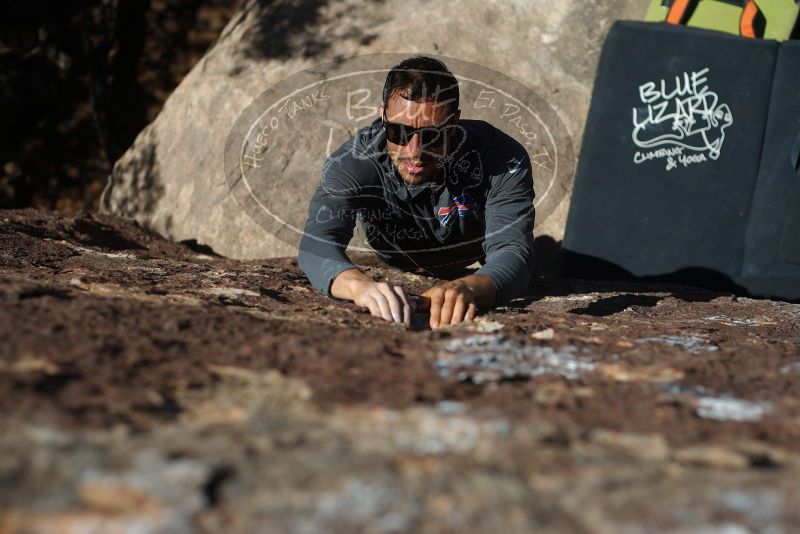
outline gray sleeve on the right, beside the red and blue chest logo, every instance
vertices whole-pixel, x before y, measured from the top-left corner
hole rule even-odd
[[[500,152],[500,151],[498,151]],[[486,263],[475,274],[488,276],[497,290],[495,306],[523,295],[533,275],[533,172],[518,145],[491,177],[486,198]]]

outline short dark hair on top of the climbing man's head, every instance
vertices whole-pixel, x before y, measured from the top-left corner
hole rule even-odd
[[[458,80],[444,63],[428,56],[413,56],[392,67],[383,85],[384,106],[393,94],[414,102],[446,102],[451,112],[458,109]]]

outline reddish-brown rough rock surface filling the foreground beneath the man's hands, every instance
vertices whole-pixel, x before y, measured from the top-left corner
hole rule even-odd
[[[291,258],[0,211],[0,532],[795,531],[799,320],[536,279],[406,329]]]

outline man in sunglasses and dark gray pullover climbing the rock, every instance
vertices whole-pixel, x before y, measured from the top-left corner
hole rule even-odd
[[[431,328],[522,295],[533,268],[533,177],[525,148],[484,121],[460,119],[458,81],[440,61],[387,75],[380,117],[325,162],[298,263],[312,285],[409,324],[401,286],[375,282],[345,254],[360,220],[385,263],[444,278],[422,294]],[[464,268],[480,262],[473,274]]]

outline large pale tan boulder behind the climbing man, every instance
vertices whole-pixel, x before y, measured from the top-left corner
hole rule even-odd
[[[116,163],[100,208],[229,257],[294,255],[326,153],[375,118],[334,109],[353,91],[333,81],[360,69],[369,98],[353,102],[368,109],[365,103],[379,103],[388,68],[426,53],[441,56],[459,77],[462,117],[489,120],[519,138],[512,130],[520,121],[503,113],[509,108],[492,115],[465,104],[492,84],[530,105],[538,139],[550,147],[528,146],[532,159],[540,150],[546,158],[559,154],[554,165],[534,166],[541,203],[535,233],[559,240],[602,40],[613,21],[641,18],[645,8],[642,0],[464,0],[457,8],[422,0],[246,2]],[[312,101],[309,88],[323,87],[321,81],[328,98]],[[286,100],[290,94],[303,97],[299,107]],[[287,104],[295,106],[291,119],[298,124],[262,146],[256,134],[269,126],[270,106],[281,102],[286,119]],[[253,143],[268,164],[251,158],[260,164],[248,174],[240,163]]]

